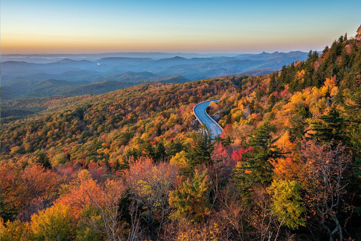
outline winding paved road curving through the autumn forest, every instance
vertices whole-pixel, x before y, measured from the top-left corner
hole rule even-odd
[[[196,106],[193,108],[193,113],[197,120],[201,124],[205,124],[206,128],[210,130],[210,134],[212,135],[212,138],[216,137],[217,135],[221,135],[223,132],[223,129],[218,123],[213,120],[205,111],[206,108],[209,106],[210,102],[218,102],[219,99],[214,100],[207,100],[201,103],[196,104]]]

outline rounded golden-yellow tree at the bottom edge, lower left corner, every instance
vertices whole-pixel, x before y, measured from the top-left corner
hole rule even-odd
[[[34,240],[62,240],[73,236],[73,218],[69,206],[57,204],[31,216],[31,231]]]

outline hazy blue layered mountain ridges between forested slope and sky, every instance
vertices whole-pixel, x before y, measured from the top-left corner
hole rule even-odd
[[[5,61],[1,62],[1,89],[4,90],[1,99],[100,94],[139,83],[183,83],[232,75],[254,76],[271,73],[307,57],[307,53],[300,51],[211,57],[187,55],[191,58],[180,55],[162,59],[107,56],[92,61],[65,56],[51,63]],[[85,88],[89,88],[88,91]]]

